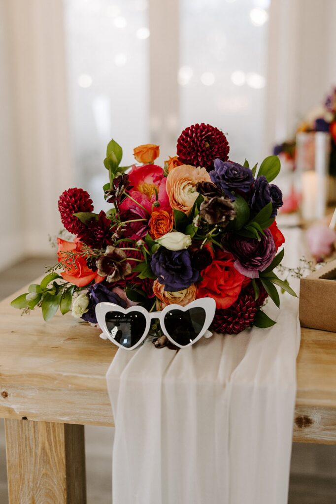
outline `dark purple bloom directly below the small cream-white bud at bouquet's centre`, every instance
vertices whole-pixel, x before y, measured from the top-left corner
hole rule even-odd
[[[199,272],[191,266],[188,250],[160,247],[152,255],[150,267],[167,292],[187,289],[199,279]]]

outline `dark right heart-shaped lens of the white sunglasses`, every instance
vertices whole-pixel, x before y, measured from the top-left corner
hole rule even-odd
[[[164,325],[169,336],[179,345],[189,345],[202,331],[205,322],[204,308],[187,311],[173,309],[164,316]]]

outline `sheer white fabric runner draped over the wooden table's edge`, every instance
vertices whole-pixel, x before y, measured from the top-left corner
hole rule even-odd
[[[298,231],[289,241],[300,256]],[[298,302],[286,294],[281,310],[268,304],[269,329],[179,352],[118,350],[106,374],[113,504],[287,503]]]

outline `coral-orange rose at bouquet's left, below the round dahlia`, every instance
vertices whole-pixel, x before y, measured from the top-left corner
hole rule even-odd
[[[64,271],[61,273],[64,280],[77,285],[77,287],[85,287],[85,285],[91,283],[92,280],[94,280],[95,283],[104,280],[104,277],[101,277],[96,271],[94,272],[88,268],[84,257],[79,256],[79,253],[83,249],[83,243],[81,243],[78,238],[75,238],[73,242],[57,238],[57,242],[59,245],[57,251],[58,261],[64,264]],[[70,257],[70,255],[67,254],[69,252],[74,253],[75,257],[72,255],[72,257]],[[78,257],[76,257],[76,255],[78,255]]]

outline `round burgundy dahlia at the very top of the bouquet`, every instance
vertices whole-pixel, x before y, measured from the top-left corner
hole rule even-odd
[[[193,124],[180,135],[177,143],[177,154],[183,164],[213,168],[213,161],[229,159],[227,137],[218,128],[210,124]]]

